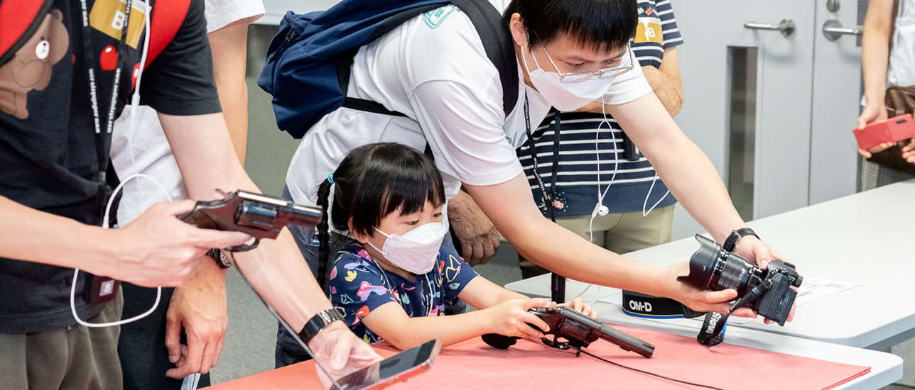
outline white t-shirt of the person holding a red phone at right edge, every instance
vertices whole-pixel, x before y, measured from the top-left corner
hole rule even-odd
[[[889,53],[888,86],[915,85],[915,0],[899,1],[896,35]]]

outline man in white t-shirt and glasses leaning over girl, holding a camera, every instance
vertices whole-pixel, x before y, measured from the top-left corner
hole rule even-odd
[[[601,100],[657,168],[683,206],[721,243],[746,227],[715,167],[673,122],[633,65],[630,37],[636,1],[490,0],[511,30],[523,80],[519,100],[502,111],[498,71],[467,16],[454,5],[414,17],[355,56],[347,95],[381,103],[406,117],[341,108],[313,126],[286,176],[297,203],[315,205],[318,184],[350,150],[401,142],[435,157],[450,199],[452,228],[477,205],[524,257],[568,278],[671,297],[698,311],[727,312],[734,290],[700,291],[676,281],[686,261],[665,269],[590,245],[538,211],[515,154],[555,107],[574,111]],[[460,191],[463,184],[466,193]],[[472,197],[468,202],[466,196]],[[473,203],[476,205],[473,205]],[[597,213],[597,209],[595,210]],[[309,237],[298,237],[300,247]],[[736,251],[762,265],[778,252],[756,237]],[[684,254],[685,257],[685,254]],[[308,258],[308,256],[307,256]],[[752,315],[751,311],[738,314]]]

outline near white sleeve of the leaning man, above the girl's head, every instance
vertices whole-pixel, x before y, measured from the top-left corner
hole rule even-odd
[[[475,91],[448,80],[426,81],[409,98],[443,174],[470,185],[505,183],[522,173],[505,139],[499,80]]]

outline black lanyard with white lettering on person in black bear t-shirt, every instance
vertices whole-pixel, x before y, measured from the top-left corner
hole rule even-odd
[[[89,26],[89,7],[86,5],[86,2],[87,0],[80,0],[82,11],[82,54],[86,61],[86,69],[89,69],[89,97],[92,101],[92,120],[95,124],[95,152],[99,162],[99,189],[102,194],[104,194],[106,193],[105,189],[107,187],[106,172],[108,170],[109,142],[111,142],[110,134],[114,126],[114,111],[117,111],[118,89],[121,84],[121,59],[126,55],[126,53],[124,53],[124,42],[127,40],[127,26],[130,22],[133,0],[126,0],[127,5],[126,8],[124,8],[124,24],[121,28],[121,39],[118,41],[116,52],[117,62],[114,67],[114,79],[112,82],[112,99],[108,106],[108,116],[105,120],[104,133],[102,133],[102,118],[99,113],[98,89],[95,83],[95,58],[92,56],[94,53],[94,46],[92,45],[92,27]],[[105,196],[105,202],[107,202],[107,196]],[[102,207],[103,206],[104,205],[102,205]]]

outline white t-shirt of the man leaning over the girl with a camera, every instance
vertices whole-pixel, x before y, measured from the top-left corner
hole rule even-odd
[[[509,3],[490,1],[500,10]],[[614,80],[605,102],[622,104],[651,92],[640,67],[635,69]],[[448,198],[458,194],[461,183],[505,183],[522,174],[515,149],[526,139],[524,97],[533,127],[551,107],[519,84],[518,103],[506,118],[499,72],[470,19],[454,5],[416,16],[360,48],[347,93],[407,117],[347,108],[329,113],[299,144],[286,174],[289,191],[296,203],[315,205],[318,184],[346,153],[372,142],[400,142],[418,151],[428,143]]]

